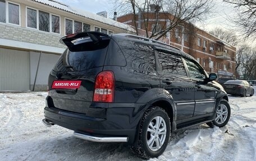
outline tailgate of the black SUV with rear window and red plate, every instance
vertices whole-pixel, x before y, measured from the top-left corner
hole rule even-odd
[[[58,60],[48,80],[54,107],[79,113],[88,111],[86,107],[93,101],[95,77],[103,70],[110,40],[108,36],[102,36],[95,42],[87,36],[75,43],[66,42],[68,49]],[[80,81],[81,84],[79,88],[56,87],[62,81]]]

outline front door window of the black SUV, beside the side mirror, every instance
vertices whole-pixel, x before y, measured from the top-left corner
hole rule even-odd
[[[185,59],[186,65],[188,66],[189,69],[189,75],[191,78],[195,79],[205,79],[205,74],[203,71],[203,68],[200,67],[197,63],[190,61],[188,59]]]

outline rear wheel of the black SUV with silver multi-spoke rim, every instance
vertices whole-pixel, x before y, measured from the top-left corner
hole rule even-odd
[[[159,157],[167,147],[170,133],[171,123],[168,114],[159,107],[149,108],[141,118],[138,142],[131,146],[131,150],[143,159]]]

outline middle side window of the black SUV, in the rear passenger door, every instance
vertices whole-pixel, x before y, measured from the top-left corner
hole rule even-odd
[[[158,59],[163,72],[186,76],[185,66],[180,56],[161,50],[158,51]]]

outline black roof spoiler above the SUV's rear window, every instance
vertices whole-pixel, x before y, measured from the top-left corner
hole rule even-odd
[[[70,34],[70,35],[64,36],[63,38],[60,39],[60,43],[63,45],[66,45],[68,48],[72,48],[74,46],[74,43],[72,43],[72,41],[74,41],[76,39],[90,37],[90,39],[92,39],[93,42],[98,43],[100,40],[102,40],[102,37],[100,37],[100,36],[108,37],[109,35],[99,33],[96,31],[75,33],[75,34]]]

